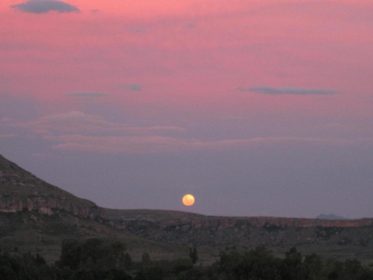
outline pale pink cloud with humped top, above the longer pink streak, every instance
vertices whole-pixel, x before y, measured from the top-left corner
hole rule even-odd
[[[70,111],[54,115],[43,116],[37,120],[17,122],[11,124],[15,127],[29,128],[38,134],[59,133],[127,133],[127,134],[154,134],[160,132],[185,132],[184,128],[176,126],[134,127],[106,121],[101,116],[89,115],[79,111]]]

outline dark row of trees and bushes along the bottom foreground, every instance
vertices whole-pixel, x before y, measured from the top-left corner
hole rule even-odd
[[[373,270],[357,260],[303,257],[295,248],[285,258],[264,247],[226,249],[211,265],[198,265],[195,248],[186,258],[133,262],[121,242],[88,239],[62,244],[60,260],[47,265],[40,256],[0,252],[1,280],[373,280]]]

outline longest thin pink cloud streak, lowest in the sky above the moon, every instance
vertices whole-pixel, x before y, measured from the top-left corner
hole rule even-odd
[[[183,152],[200,149],[232,149],[263,143],[319,143],[350,144],[353,140],[322,137],[254,137],[248,139],[229,139],[203,141],[163,136],[82,136],[62,135],[45,136],[45,139],[60,142],[54,149],[78,150],[102,153],[161,153]]]

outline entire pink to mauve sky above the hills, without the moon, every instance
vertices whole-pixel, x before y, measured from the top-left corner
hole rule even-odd
[[[372,34],[370,0],[1,0],[0,154],[103,207],[372,217]]]

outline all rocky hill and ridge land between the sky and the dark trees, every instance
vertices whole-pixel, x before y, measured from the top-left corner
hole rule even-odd
[[[134,258],[185,256],[197,246],[211,261],[226,246],[292,246],[339,259],[373,259],[373,219],[215,217],[180,211],[100,208],[52,186],[0,156],[0,248],[59,257],[62,239],[101,237],[127,244]]]

